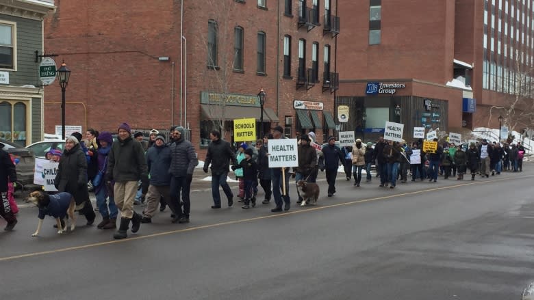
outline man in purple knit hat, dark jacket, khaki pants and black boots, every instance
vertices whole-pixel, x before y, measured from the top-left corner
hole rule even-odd
[[[141,144],[131,138],[127,123],[118,126],[118,141],[113,144],[107,159],[106,181],[115,181],[115,204],[120,210],[120,226],[114,238],[126,238],[131,221],[131,232],[139,230],[142,216],[133,210],[139,180],[148,182],[147,161]]]

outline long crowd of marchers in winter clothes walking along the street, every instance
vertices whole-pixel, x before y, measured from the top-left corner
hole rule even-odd
[[[204,165],[205,173],[212,178],[212,209],[222,207],[219,187],[227,198],[227,206],[234,200],[242,202],[242,208],[257,205],[256,196],[261,187],[264,191],[263,205],[274,200],[273,213],[290,210],[290,180],[298,187],[298,182],[314,183],[318,172],[325,172],[328,184],[327,196],[336,193],[335,183],[338,168],[342,165],[346,180],[354,180],[356,188],[361,187],[362,174],[366,183],[374,176],[379,178],[379,187],[394,189],[397,182],[429,180],[437,182],[438,176],[448,179],[451,176],[463,180],[470,173],[471,180],[476,174],[489,177],[503,171],[522,172],[525,148],[520,144],[471,143],[462,145],[444,142],[433,152],[423,151],[421,139],[407,144],[404,140],[385,141],[379,137],[375,144],[364,144],[356,139],[352,146],[338,147],[335,137],[327,139],[325,146],[313,147],[314,132],[298,135],[297,167],[269,167],[268,143],[272,139],[285,139],[283,128],[275,126],[271,133],[252,144],[242,143],[232,147],[221,137],[219,131],[209,133],[211,143],[207,148]],[[434,141],[437,142],[437,139]],[[12,185],[16,182],[15,166],[0,144],[0,193],[3,205],[0,215],[7,221],[5,230],[16,225],[16,203],[12,198]],[[234,149],[237,148],[237,151]],[[418,150],[418,151],[415,151]],[[417,159],[414,159],[414,153]],[[419,153],[419,154],[417,154]],[[101,215],[99,229],[117,229],[114,238],[126,238],[137,232],[140,224],[151,223],[158,211],[166,207],[171,210],[172,223],[190,222],[190,189],[195,167],[199,164],[194,146],[185,139],[184,128],[170,128],[170,139],[153,129],[149,140],[143,134],[132,133],[129,124],[122,123],[117,129],[117,138],[112,133],[90,128],[85,138],[81,133],[73,133],[66,139],[62,151],[52,149],[47,158],[58,162],[55,187],[58,192],[69,193],[75,199],[79,214],[84,215],[90,226]],[[374,168],[373,168],[374,166]],[[227,183],[230,169],[233,170],[239,185],[237,195]],[[89,199],[90,187],[97,199],[93,208]],[[296,204],[302,204],[305,197],[302,189],[295,189]],[[12,200],[12,199],[11,199]],[[307,201],[307,200],[306,200]],[[135,204],[144,204],[142,213],[133,209]],[[46,208],[44,208],[46,211]],[[120,215],[119,215],[120,213]],[[118,225],[117,225],[118,223]],[[64,226],[64,220],[62,220]]]

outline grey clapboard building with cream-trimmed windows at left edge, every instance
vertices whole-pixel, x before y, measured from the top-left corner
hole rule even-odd
[[[43,20],[53,0],[0,1],[0,139],[27,146],[42,139],[39,79]]]

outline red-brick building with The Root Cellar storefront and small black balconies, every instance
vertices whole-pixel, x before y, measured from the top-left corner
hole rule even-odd
[[[321,141],[335,127],[336,2],[61,1],[44,44],[72,71],[66,124],[182,125],[203,158],[213,128],[231,140],[231,120],[256,118],[260,133],[263,88],[265,132],[280,124]],[[61,122],[60,97],[60,87],[46,88],[45,132]]]

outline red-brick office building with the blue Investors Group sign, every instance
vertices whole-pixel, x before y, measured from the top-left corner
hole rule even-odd
[[[335,105],[351,107],[357,136],[376,138],[384,120],[405,124],[408,140],[414,126],[497,128],[499,115],[532,125],[505,109],[520,75],[523,95],[531,95],[532,0],[341,0],[340,7],[351,30],[338,39]]]

